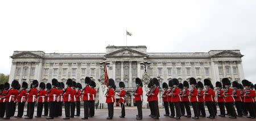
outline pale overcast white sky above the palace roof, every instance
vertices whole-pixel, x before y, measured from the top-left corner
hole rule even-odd
[[[240,49],[256,82],[256,1],[0,1],[0,73],[13,51],[106,52],[107,45],[147,52]]]

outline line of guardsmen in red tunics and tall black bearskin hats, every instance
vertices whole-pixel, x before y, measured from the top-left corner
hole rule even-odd
[[[138,109],[138,115],[136,119],[142,119],[142,102],[143,102],[143,84],[140,78],[135,79],[137,88],[134,92],[134,101]],[[38,88],[39,85],[39,88]],[[53,119],[62,115],[62,105],[64,102],[65,118],[70,119],[74,116],[80,116],[80,102],[84,101],[84,118],[94,116],[94,102],[96,98],[96,84],[91,81],[89,77],[85,78],[85,87],[82,89],[80,83],[68,79],[66,82],[67,88],[63,82],[58,82],[55,78],[52,79],[52,84],[44,84],[37,80],[32,81],[30,90],[27,90],[28,84],[14,80],[10,84],[0,85],[0,107],[5,107],[0,110],[0,117],[2,119],[10,119],[14,116],[16,103],[18,102],[18,114],[15,118],[22,118],[24,111],[24,104],[27,102],[27,117],[26,119],[32,119],[34,115],[35,102],[38,101],[36,118],[41,116],[49,116],[47,119]],[[190,88],[189,88],[190,85]],[[112,78],[106,82],[108,87],[105,97],[106,103],[108,103],[108,118],[113,119],[114,115],[114,102],[115,94],[120,97],[119,103],[121,104],[121,116],[125,118],[125,84],[119,82],[121,91],[115,92],[115,82]],[[249,116],[247,118],[255,118],[256,102],[255,91],[256,84],[253,85],[247,80],[242,80],[242,84],[238,84],[237,81],[232,83],[228,78],[223,78],[221,82],[216,82],[214,88],[212,82],[209,79],[204,80],[204,84],[195,78],[191,77],[188,81],[184,81],[183,84],[174,78],[168,82],[163,83],[163,102],[166,114],[164,116],[170,116],[170,118],[180,119],[181,116],[191,118],[190,103],[193,108],[193,119],[199,119],[199,117],[205,117],[205,107],[209,111],[207,118],[214,119],[217,115],[217,106],[220,108],[220,117],[229,115],[229,118],[235,119],[237,116]],[[9,89],[10,88],[10,89]],[[159,81],[156,78],[152,78],[148,82],[148,91],[146,93],[148,106],[150,107],[151,118],[159,119],[159,107],[158,107],[158,94],[159,94]],[[81,99],[81,95],[83,98]],[[217,98],[217,102],[215,101]],[[236,110],[234,108],[236,106]],[[44,107],[44,115],[42,115]],[[170,107],[170,110],[169,110]],[[75,109],[77,113],[75,115]],[[225,110],[226,109],[226,110]],[[236,112],[237,111],[237,112]],[[49,112],[49,113],[48,113]],[[175,113],[176,112],[176,113]],[[187,112],[187,115],[185,115]],[[5,118],[3,118],[5,116]]]

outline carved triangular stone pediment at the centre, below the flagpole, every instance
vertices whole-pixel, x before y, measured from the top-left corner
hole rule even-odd
[[[123,49],[119,49],[118,51],[108,53],[105,56],[106,57],[130,57],[130,56],[144,57],[146,56],[147,57],[148,55],[139,51],[135,51],[134,49],[123,48]]]

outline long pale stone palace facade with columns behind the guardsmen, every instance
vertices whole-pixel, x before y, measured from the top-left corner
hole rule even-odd
[[[126,84],[127,102],[133,105],[135,78],[144,82],[146,93],[147,82],[150,78],[160,76],[160,84],[177,78],[180,82],[195,77],[197,81],[209,78],[213,84],[224,77],[232,81],[243,80],[243,66],[239,50],[212,50],[195,53],[147,53],[146,46],[108,46],[106,53],[44,53],[43,51],[14,51],[11,56],[12,65],[10,80],[19,82],[32,80],[51,82],[52,78],[65,82],[72,78],[84,86],[86,76],[92,76],[98,89],[97,99],[105,103],[104,67],[100,66],[106,57],[109,78],[114,78],[116,85],[119,81]],[[147,57],[150,66],[143,76],[144,68],[140,64]],[[117,91],[119,89],[117,88]],[[160,98],[159,94],[159,98]],[[161,104],[160,99],[159,104]],[[144,96],[144,106],[146,96]]]

